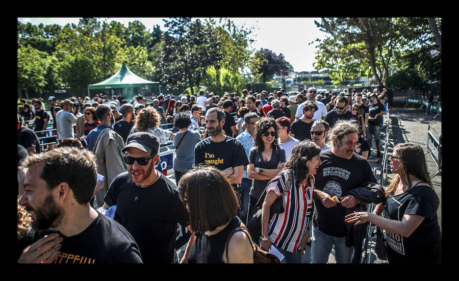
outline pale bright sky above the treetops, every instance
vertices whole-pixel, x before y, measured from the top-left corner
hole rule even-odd
[[[20,22],[31,22],[38,25],[39,23],[65,25],[67,23],[78,23],[79,18],[68,17],[18,17]],[[124,25],[134,20],[140,20],[147,29],[152,30],[155,25],[159,25],[161,30],[165,30],[163,18],[145,18],[145,17],[112,17],[108,21],[116,20]],[[167,18],[166,18],[167,19]],[[274,53],[283,54],[293,69],[297,72],[314,70],[315,62],[315,42],[317,38],[325,38],[315,25],[314,20],[320,21],[320,18],[312,17],[259,17],[259,18],[232,18],[236,24],[245,24],[246,27],[254,27],[253,39],[256,42],[252,45],[254,49],[266,48]],[[314,42],[313,44],[309,44]]]

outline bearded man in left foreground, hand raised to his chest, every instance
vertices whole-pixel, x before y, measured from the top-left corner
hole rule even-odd
[[[132,235],[91,208],[95,156],[87,149],[57,147],[29,156],[18,204],[32,211],[35,233],[21,240],[18,263],[142,263]]]

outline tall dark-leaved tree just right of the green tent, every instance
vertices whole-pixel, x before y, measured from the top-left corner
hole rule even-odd
[[[206,69],[220,66],[220,42],[209,25],[191,18],[165,20],[168,31],[164,34],[158,69],[161,81],[170,89],[198,86]]]

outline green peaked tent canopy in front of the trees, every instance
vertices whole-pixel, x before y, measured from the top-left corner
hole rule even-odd
[[[134,88],[141,88],[145,86],[156,86],[157,92],[160,92],[159,82],[148,81],[137,76],[129,70],[123,62],[118,72],[113,74],[110,78],[96,84],[88,85],[88,94],[89,90],[95,89],[123,89],[123,99],[130,100],[134,98]]]

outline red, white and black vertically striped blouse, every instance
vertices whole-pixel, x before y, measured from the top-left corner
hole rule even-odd
[[[288,172],[278,174],[268,184],[266,192],[273,190],[278,196],[282,194],[288,180]],[[311,220],[313,212],[314,176],[310,175],[307,184],[295,186],[293,176],[292,187],[284,195],[284,209],[282,214],[273,214],[268,224],[268,235],[275,246],[296,252],[301,239]]]

